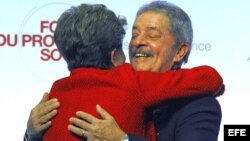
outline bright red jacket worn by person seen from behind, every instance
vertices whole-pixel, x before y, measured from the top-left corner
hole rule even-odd
[[[216,93],[223,85],[218,72],[209,66],[160,72],[136,72],[129,64],[103,70],[78,68],[69,77],[57,80],[50,97],[60,108],[43,141],[79,141],[67,130],[76,111],[96,117],[100,104],[127,133],[145,136],[144,111],[171,98]]]

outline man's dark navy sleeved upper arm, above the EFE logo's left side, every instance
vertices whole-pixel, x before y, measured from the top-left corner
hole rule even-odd
[[[202,105],[202,106],[201,106]],[[221,123],[221,107],[214,97],[204,97],[194,101],[183,112],[183,126],[176,141],[217,141]]]

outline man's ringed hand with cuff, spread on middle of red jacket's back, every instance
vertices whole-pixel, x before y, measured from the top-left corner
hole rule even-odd
[[[98,119],[80,111],[77,112],[77,118],[70,118],[71,124],[68,126],[68,129],[78,136],[88,138],[89,141],[123,141],[126,133],[119,127],[115,119],[99,105],[97,105],[96,111],[103,119]],[[127,135],[128,141],[149,141],[148,139],[129,133]]]

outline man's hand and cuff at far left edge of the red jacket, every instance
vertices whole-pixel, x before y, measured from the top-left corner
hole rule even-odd
[[[42,135],[51,126],[50,120],[57,114],[58,107],[57,99],[49,100],[49,94],[45,93],[31,110],[24,141],[42,141]]]

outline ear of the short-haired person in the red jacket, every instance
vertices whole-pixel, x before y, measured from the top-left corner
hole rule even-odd
[[[111,62],[112,64],[117,67],[125,63],[125,55],[123,50],[113,49],[111,52]]]

